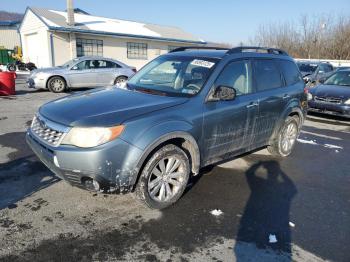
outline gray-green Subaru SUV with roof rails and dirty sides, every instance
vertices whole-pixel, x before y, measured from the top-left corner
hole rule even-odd
[[[288,156],[306,106],[304,81],[282,50],[178,48],[126,84],[41,106],[26,139],[71,185],[135,191],[161,209],[204,166],[266,146]]]

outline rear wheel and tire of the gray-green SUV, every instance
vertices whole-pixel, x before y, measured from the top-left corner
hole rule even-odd
[[[267,147],[271,155],[279,157],[289,156],[296,144],[300,133],[300,121],[297,116],[288,116],[285,120],[277,139]]]

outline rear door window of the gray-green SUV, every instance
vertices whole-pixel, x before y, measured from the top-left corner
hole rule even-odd
[[[281,74],[273,60],[255,60],[254,74],[257,91],[283,86]]]

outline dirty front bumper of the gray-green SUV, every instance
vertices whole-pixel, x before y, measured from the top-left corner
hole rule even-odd
[[[88,188],[95,180],[104,192],[132,189],[142,151],[121,139],[95,148],[53,147],[36,138],[29,129],[26,141],[38,158],[58,177],[73,186]]]

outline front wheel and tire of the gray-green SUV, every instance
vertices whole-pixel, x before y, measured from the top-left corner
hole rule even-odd
[[[149,208],[166,208],[182,196],[189,176],[186,153],[175,145],[165,145],[144,166],[136,185],[136,196]]]

